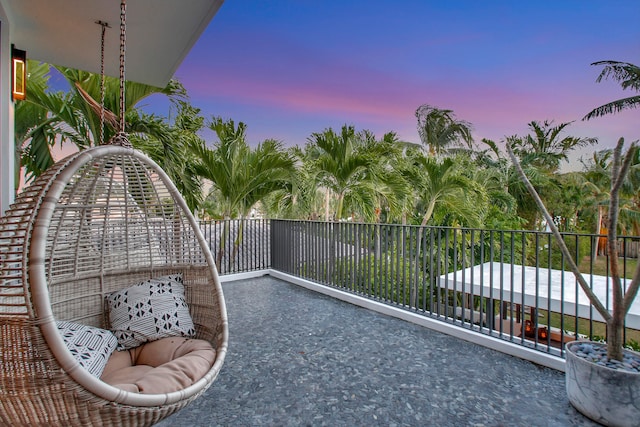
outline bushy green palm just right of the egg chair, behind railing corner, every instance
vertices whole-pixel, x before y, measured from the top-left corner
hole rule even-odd
[[[233,120],[216,117],[209,127],[218,141],[213,150],[206,146],[195,147],[195,172],[213,184],[212,191],[224,219],[238,216],[243,220],[257,202],[287,187],[293,175],[294,159],[280,142],[271,139],[252,150],[246,142],[246,125],[242,122],[236,127]],[[216,255],[218,268],[229,232],[229,222],[225,221]],[[242,242],[242,232],[241,221],[234,253]]]

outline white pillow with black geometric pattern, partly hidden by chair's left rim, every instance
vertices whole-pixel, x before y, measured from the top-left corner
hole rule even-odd
[[[56,324],[64,343],[80,366],[99,378],[118,345],[115,335],[106,329],[64,320],[58,320]]]

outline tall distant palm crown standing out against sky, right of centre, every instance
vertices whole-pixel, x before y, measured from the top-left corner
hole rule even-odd
[[[450,148],[468,147],[473,144],[471,124],[457,120],[452,110],[443,110],[431,105],[421,105],[416,110],[418,134],[422,144],[429,148],[432,156]]]

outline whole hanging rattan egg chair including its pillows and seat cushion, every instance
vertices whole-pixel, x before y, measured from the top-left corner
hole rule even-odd
[[[198,223],[122,138],[57,162],[0,218],[0,424],[151,425],[211,386],[227,343]]]

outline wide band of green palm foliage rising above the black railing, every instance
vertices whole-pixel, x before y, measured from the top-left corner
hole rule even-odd
[[[638,90],[636,66],[615,61],[594,65],[604,66],[598,81],[613,78],[624,89]],[[50,90],[52,72],[67,80],[68,90]],[[29,73],[29,97],[17,102],[15,110],[17,160],[27,180],[53,164],[56,144],[84,149],[108,140],[118,129],[120,115],[117,79],[105,78],[107,120],[102,131],[100,76],[34,61],[29,61]],[[130,140],[169,174],[189,207],[203,216],[246,216],[259,206],[272,218],[544,229],[500,143],[483,140],[484,151],[471,150],[471,124],[451,110],[427,104],[416,110],[421,144],[400,141],[393,132],[378,138],[369,130],[344,125],[337,131],[312,133],[304,147],[285,149],[283,143],[267,139],[251,149],[244,123],[219,117],[207,123],[177,81],[164,88],[126,82],[126,93]],[[152,94],[171,101],[172,122],[137,107]],[[595,142],[565,136],[569,125],[531,121],[528,135],[505,137],[501,143],[513,148],[530,181],[553,208],[561,231],[599,232],[607,209],[611,153],[595,152],[582,172],[558,173],[572,150]],[[213,149],[199,136],[206,128],[217,137]],[[618,223],[623,234],[640,235],[639,165],[636,158],[620,192]],[[207,194],[203,180],[213,183]],[[516,248],[514,257],[535,259],[538,251],[532,252],[531,245],[524,245],[525,255],[523,248]],[[562,263],[555,255],[546,260],[544,251],[537,258],[554,266]]]

